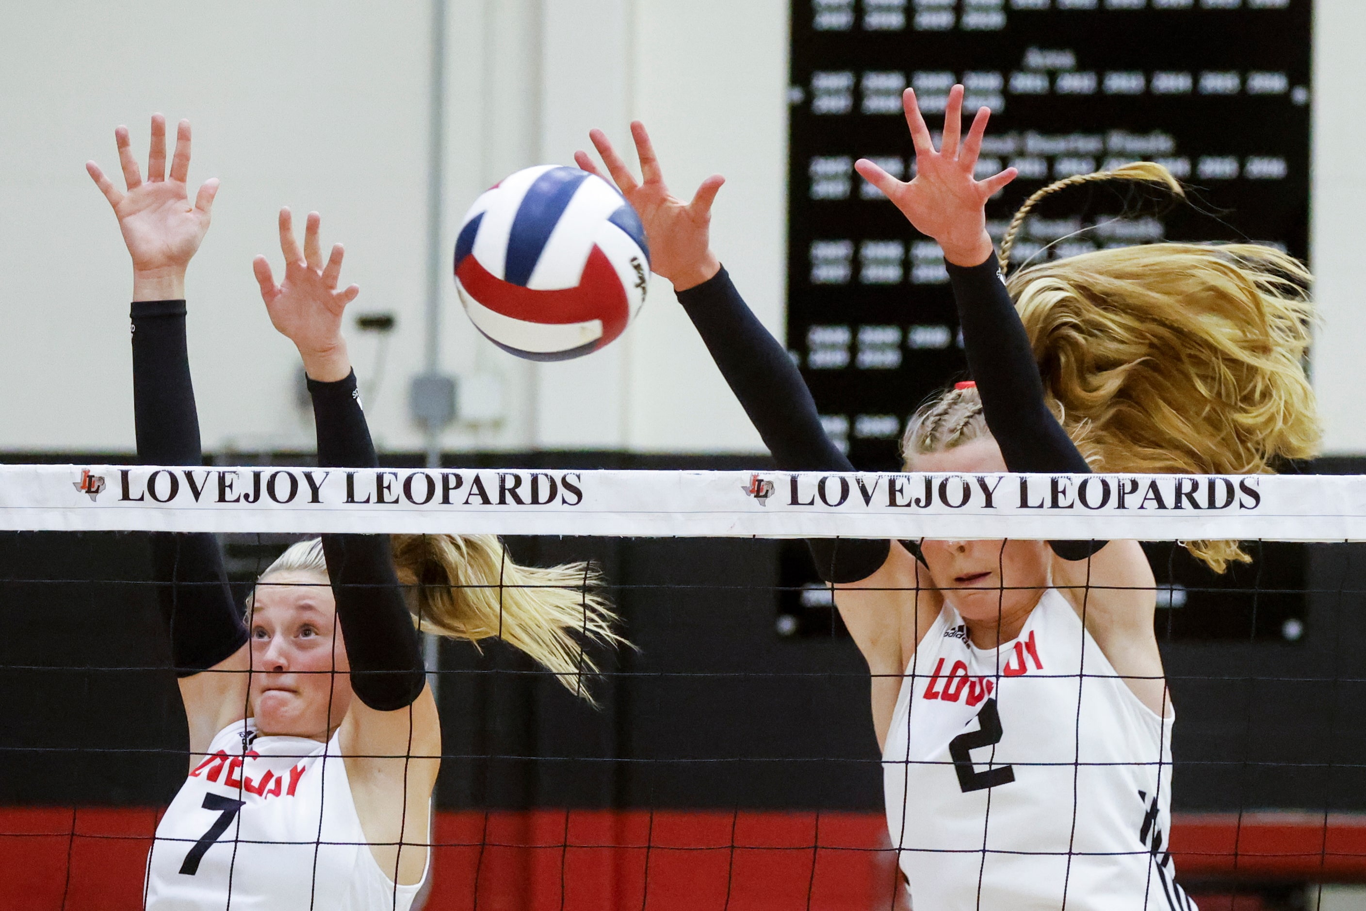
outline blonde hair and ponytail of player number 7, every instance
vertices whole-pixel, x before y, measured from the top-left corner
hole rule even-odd
[[[597,593],[602,579],[591,564],[522,565],[492,534],[396,534],[389,541],[418,630],[475,646],[481,639],[503,639],[597,705],[583,679],[598,668],[583,646],[628,643],[615,631],[619,617]],[[291,545],[258,582],[285,572],[328,578],[322,539]]]

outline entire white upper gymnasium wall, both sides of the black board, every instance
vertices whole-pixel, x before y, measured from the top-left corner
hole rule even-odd
[[[679,194],[728,178],[714,243],[764,321],[784,292],[784,0],[448,0],[445,224],[486,186],[542,161],[568,163],[591,126],[626,142],[643,119]],[[1366,4],[1317,0],[1313,255],[1324,328],[1314,380],[1328,449],[1366,453],[1358,395],[1366,307],[1366,70],[1355,36]],[[0,30],[0,449],[131,449],[128,266],[82,163],[115,164],[127,123],[195,124],[191,178],[219,176],[214,224],[190,272],[190,346],[208,449],[311,441],[296,358],[266,322],[251,255],[273,254],[275,212],[324,214],[348,247],[355,310],[389,310],[367,412],[380,444],[418,449],[407,384],[422,367],[430,7],[309,0],[11,4]],[[443,275],[445,264],[443,264]],[[608,350],[531,365],[473,332],[443,280],[443,367],[477,392],[448,449],[759,451],[656,279],[641,320]],[[377,344],[351,332],[362,380]],[[494,402],[501,391],[501,403]]]

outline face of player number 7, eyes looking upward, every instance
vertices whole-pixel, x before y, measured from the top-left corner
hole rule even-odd
[[[251,707],[262,733],[325,740],[351,705],[336,601],[326,576],[280,572],[255,587]]]

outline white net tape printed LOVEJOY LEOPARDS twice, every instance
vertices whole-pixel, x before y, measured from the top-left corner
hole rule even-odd
[[[0,530],[1366,541],[1366,477],[16,464]]]

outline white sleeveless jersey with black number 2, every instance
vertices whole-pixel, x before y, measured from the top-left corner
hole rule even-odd
[[[1085,675],[1083,675],[1085,672]],[[906,669],[882,754],[915,911],[1193,911],[1176,885],[1172,721],[1049,589],[982,650],[944,605]]]

